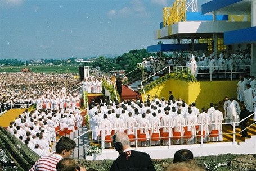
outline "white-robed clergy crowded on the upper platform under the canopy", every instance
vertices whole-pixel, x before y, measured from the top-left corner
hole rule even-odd
[[[148,57],[143,58],[142,67],[147,72],[156,73],[162,70],[168,65],[186,66],[191,70],[191,73],[197,77],[199,72],[210,72],[214,71],[225,72],[225,71],[246,71],[250,69],[251,56],[248,53],[239,52],[237,54],[228,54],[222,52],[219,56],[215,57],[212,54],[206,56],[181,56],[181,57]]]

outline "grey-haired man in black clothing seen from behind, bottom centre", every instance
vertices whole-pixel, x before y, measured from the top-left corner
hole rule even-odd
[[[120,156],[112,163],[110,171],[155,171],[149,154],[132,150],[129,138],[124,132],[115,133],[112,136],[112,140],[114,148],[119,152]]]

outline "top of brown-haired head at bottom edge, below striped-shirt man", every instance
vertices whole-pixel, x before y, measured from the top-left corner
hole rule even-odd
[[[77,164],[73,159],[63,158],[57,163],[56,169],[57,171],[76,171]]]

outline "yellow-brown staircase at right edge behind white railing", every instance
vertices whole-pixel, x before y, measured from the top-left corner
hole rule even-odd
[[[238,101],[239,102],[239,101]],[[218,110],[221,111],[222,113],[224,113],[224,101],[219,101],[219,103],[215,104],[218,106]],[[240,108],[242,108],[242,103],[239,102],[239,105],[240,105]],[[223,121],[224,123],[225,121]],[[248,119],[248,122],[247,122],[247,126],[250,126],[251,124],[253,124],[255,121],[253,121],[253,116],[251,116],[249,119]],[[224,134],[223,135],[223,142],[231,142],[233,141],[233,135],[230,134],[230,135],[227,135],[225,133],[233,133],[233,126],[231,126],[230,124],[223,124],[222,125],[222,133]],[[241,127],[238,126],[236,128],[236,133],[239,133],[241,131]],[[254,124],[253,126],[247,128],[247,133],[249,135],[249,137],[251,136],[254,136],[256,135],[256,125]],[[240,133],[239,134],[236,134],[236,141],[237,142],[244,142],[246,138],[242,138],[241,137],[242,134]]]

